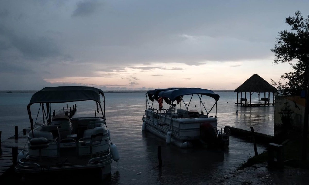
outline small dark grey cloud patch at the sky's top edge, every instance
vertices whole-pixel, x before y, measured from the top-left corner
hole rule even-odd
[[[100,5],[101,3],[97,1],[80,1],[76,4],[77,7],[73,12],[72,17],[91,15]]]

